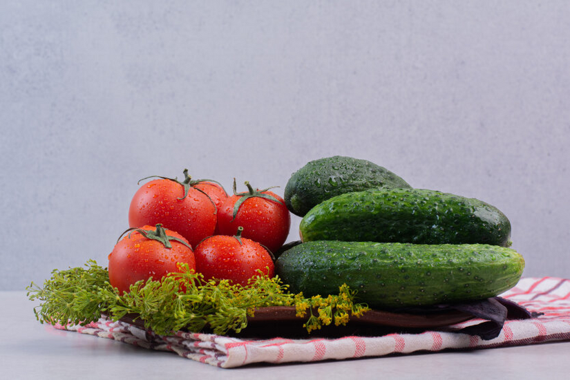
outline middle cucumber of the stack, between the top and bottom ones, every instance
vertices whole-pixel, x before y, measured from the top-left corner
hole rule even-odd
[[[299,225],[301,240],[508,247],[511,222],[475,198],[425,189],[369,189],[321,202]]]

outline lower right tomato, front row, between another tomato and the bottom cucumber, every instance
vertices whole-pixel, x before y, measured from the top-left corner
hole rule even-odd
[[[247,280],[259,276],[258,270],[273,277],[275,267],[269,252],[254,240],[236,236],[216,235],[202,241],[194,250],[196,272],[206,280],[231,280],[247,285]],[[269,269],[268,269],[269,268]]]

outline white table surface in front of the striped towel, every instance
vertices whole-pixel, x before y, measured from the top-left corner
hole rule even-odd
[[[222,369],[41,325],[26,292],[0,292],[2,379],[568,379],[570,341]]]

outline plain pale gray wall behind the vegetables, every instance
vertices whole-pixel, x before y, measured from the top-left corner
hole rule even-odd
[[[283,195],[336,154],[495,205],[525,276],[570,276],[567,1],[2,1],[0,128],[0,289],[106,265],[147,175]]]

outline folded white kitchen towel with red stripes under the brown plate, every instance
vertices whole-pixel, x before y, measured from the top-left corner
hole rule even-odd
[[[531,319],[506,321],[500,335],[491,340],[460,332],[465,327],[484,322],[482,319],[471,319],[442,329],[414,334],[344,336],[337,339],[284,339],[276,336],[272,339],[249,340],[191,332],[164,336],[129,323],[105,318],[86,326],[56,327],[151,350],[175,352],[181,357],[222,368],[235,368],[251,363],[276,364],[381,357],[395,353],[493,348],[570,339],[570,280],[554,277],[522,278],[517,286],[501,296],[526,307],[535,315],[540,315]]]

